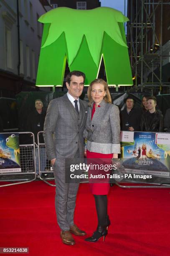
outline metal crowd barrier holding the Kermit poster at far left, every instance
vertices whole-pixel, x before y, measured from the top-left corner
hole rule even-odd
[[[13,132],[15,133],[15,132]],[[8,134],[13,134],[8,133]],[[31,143],[20,143],[20,167],[21,172],[2,172],[0,171],[0,182],[13,182],[0,185],[7,187],[11,185],[32,182],[36,179],[36,156],[35,156],[35,138],[31,132],[18,132],[19,137],[27,136],[26,140],[31,139]],[[7,133],[3,133],[7,134]],[[23,140],[24,141],[24,140]]]

